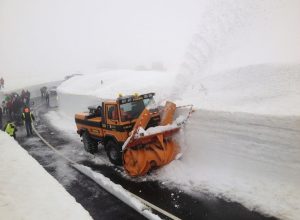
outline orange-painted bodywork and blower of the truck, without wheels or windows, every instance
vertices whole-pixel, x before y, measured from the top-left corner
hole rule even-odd
[[[118,105],[118,103],[109,101],[105,102],[103,106],[106,105]],[[174,103],[166,103],[160,121],[161,126],[173,123],[175,110],[176,105]],[[103,116],[107,115],[106,111],[105,107]],[[98,140],[111,136],[119,143],[125,142],[126,146],[123,146],[123,166],[130,176],[141,176],[147,174],[153,168],[170,163],[179,152],[178,144],[172,139],[173,134],[179,131],[179,127],[137,137],[139,128],[146,129],[153,114],[158,115],[158,112],[151,113],[145,108],[137,119],[130,122],[120,120],[120,111],[118,112],[119,120],[109,121],[109,123],[102,123],[103,119],[101,117],[89,118],[88,113],[78,113],[75,115],[75,119],[78,133],[87,130],[90,135]],[[114,126],[126,126],[129,123],[135,123],[131,132],[113,129]]]

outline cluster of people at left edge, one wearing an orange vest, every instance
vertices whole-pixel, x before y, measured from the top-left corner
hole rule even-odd
[[[7,117],[7,123],[3,130],[10,136],[16,138],[16,123],[24,123],[27,136],[33,134],[32,122],[35,120],[34,115],[30,111],[30,92],[22,90],[21,94],[11,93],[5,96],[0,106],[0,127],[3,126],[3,116]]]

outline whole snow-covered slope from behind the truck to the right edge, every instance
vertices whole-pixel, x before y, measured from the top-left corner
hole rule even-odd
[[[188,76],[175,81],[174,73],[129,70],[77,76],[58,88],[60,104],[65,110],[71,106],[70,113],[74,114],[100,99],[114,99],[119,93],[156,92],[159,103],[172,99],[214,111],[300,115],[300,65],[261,64]],[[78,95],[84,97],[76,100]],[[77,106],[71,102],[77,102]]]

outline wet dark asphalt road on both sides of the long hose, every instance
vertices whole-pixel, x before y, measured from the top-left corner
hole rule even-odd
[[[38,103],[38,101],[36,101]],[[38,105],[38,104],[36,104]],[[39,108],[37,130],[53,146],[64,152],[78,145],[61,132],[53,128],[43,117],[48,109]],[[19,129],[18,141],[66,190],[79,202],[94,219],[144,219],[139,213],[106,192],[88,177],[80,174],[67,161],[60,158],[37,137],[25,138],[23,128]],[[81,148],[81,146],[76,146]],[[83,148],[81,148],[83,150]],[[78,152],[76,151],[76,154]],[[80,154],[79,154],[80,156]],[[81,155],[82,156],[82,155]],[[100,172],[113,182],[142,197],[182,219],[211,219],[211,220],[264,220],[276,219],[265,217],[250,211],[242,205],[228,202],[211,195],[192,196],[177,188],[167,188],[159,182],[135,181],[124,178],[119,167],[96,164],[83,156],[83,165]]]

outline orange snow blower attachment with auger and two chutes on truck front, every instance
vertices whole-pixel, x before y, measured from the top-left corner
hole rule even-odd
[[[132,130],[131,136],[123,145],[123,165],[131,176],[147,174],[151,169],[161,167],[175,159],[179,146],[172,136],[180,127],[173,124],[176,105],[167,102],[160,126],[153,133],[143,132],[151,119],[145,108]]]

